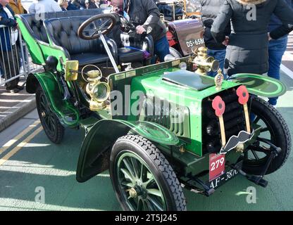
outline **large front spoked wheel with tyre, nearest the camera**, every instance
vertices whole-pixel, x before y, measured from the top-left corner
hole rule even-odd
[[[121,137],[112,148],[110,160],[111,181],[123,210],[186,210],[175,172],[147,139]]]

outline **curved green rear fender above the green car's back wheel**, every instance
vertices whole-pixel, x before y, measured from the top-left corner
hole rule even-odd
[[[30,74],[27,77],[27,92],[35,93],[38,84],[42,86],[49,102],[49,108],[57,115],[61,124],[76,127],[80,119],[80,113],[70,101],[64,100],[56,75],[52,72]]]

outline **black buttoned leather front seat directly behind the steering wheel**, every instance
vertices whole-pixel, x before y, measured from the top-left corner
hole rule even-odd
[[[100,39],[84,40],[77,30],[88,17],[55,18],[44,20],[51,44],[60,46],[70,60],[79,60],[80,65],[106,63],[109,58]],[[111,51],[112,42],[107,39]]]

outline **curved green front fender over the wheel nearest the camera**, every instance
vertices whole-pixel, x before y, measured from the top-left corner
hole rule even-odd
[[[176,145],[179,142],[175,134],[152,122],[100,120],[89,129],[82,143],[77,163],[77,181],[85,182],[108,169],[113,144],[120,136],[128,134],[130,130],[150,141],[164,145]]]

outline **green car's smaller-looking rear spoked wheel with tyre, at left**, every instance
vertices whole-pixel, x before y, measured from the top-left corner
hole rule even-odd
[[[56,114],[49,108],[48,100],[41,86],[37,88],[36,101],[39,120],[41,121],[46,136],[54,143],[61,143],[64,135],[64,127],[59,122]]]

